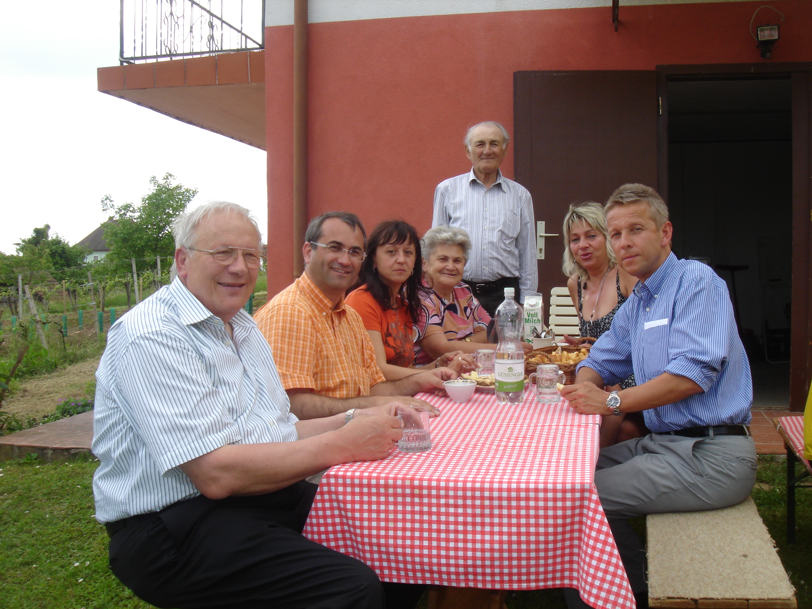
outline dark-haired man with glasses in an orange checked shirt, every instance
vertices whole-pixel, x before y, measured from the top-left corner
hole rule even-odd
[[[365,258],[366,232],[355,214],[313,218],[304,234],[304,274],[257,311],[279,377],[300,419],[388,404],[395,398],[437,409],[414,397],[456,378],[447,368],[387,381],[361,316],[344,305]],[[409,396],[409,397],[404,397]]]

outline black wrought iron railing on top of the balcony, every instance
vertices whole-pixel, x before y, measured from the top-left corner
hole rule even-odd
[[[265,48],[265,0],[121,0],[121,63]]]

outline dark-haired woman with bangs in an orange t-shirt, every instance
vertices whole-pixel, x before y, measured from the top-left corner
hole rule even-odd
[[[364,320],[383,375],[396,381],[421,372],[414,368],[412,337],[420,310],[422,257],[417,231],[402,220],[381,222],[369,235],[366,254],[361,266],[365,283],[347,296],[346,303]],[[473,359],[463,352],[448,352],[421,368],[439,366],[460,373],[473,368]]]

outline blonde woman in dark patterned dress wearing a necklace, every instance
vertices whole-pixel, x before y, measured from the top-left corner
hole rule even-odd
[[[578,310],[581,337],[598,339],[609,330],[615,313],[632,293],[637,279],[617,265],[609,244],[603,205],[592,201],[570,205],[562,234],[565,244],[562,270],[569,277],[567,287]],[[564,335],[564,339],[571,344],[581,343],[580,339],[568,335]],[[630,376],[614,389],[633,386],[634,376]],[[647,430],[643,417],[639,412],[634,414],[622,421],[620,417],[604,417],[601,447],[644,435]]]

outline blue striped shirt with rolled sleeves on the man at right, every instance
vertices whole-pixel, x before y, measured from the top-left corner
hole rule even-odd
[[[750,422],[753,382],[736,330],[728,286],[711,267],[670,254],[620,307],[586,365],[607,385],[634,372],[637,384],[663,372],[690,378],[702,393],[643,411],[654,432]]]

